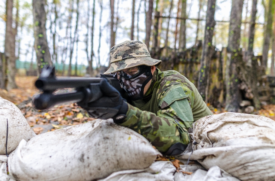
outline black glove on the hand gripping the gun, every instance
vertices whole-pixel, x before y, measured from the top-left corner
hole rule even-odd
[[[102,97],[88,104],[78,102],[77,104],[86,109],[89,115],[93,118],[108,119],[113,118],[114,122],[122,122],[126,117],[128,109],[127,103],[106,79],[100,82]]]

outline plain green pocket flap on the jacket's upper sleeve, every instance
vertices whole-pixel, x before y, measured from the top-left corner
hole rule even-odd
[[[170,88],[167,92],[164,93],[162,97],[163,98],[160,100],[160,103],[159,103],[159,107],[161,109],[169,106],[176,100],[180,100],[188,97],[188,95],[186,95],[182,86],[179,85],[179,86],[173,86],[172,88]]]

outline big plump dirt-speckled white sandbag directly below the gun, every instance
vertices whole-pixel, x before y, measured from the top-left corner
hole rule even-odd
[[[8,164],[18,181],[84,181],[147,168],[158,154],[142,135],[97,119],[22,140]]]

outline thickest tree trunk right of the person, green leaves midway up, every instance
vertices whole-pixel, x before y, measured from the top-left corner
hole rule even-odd
[[[226,80],[226,107],[229,112],[237,112],[241,101],[238,85],[238,64],[241,61],[240,39],[241,39],[241,13],[243,0],[233,0],[230,14],[229,38],[228,38],[228,61],[229,80]]]

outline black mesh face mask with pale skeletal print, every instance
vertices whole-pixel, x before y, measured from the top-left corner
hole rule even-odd
[[[152,79],[153,75],[151,67],[141,67],[140,72],[129,78],[128,76],[120,76],[120,86],[126,91],[129,97],[135,101],[141,99],[144,95],[144,87]]]

